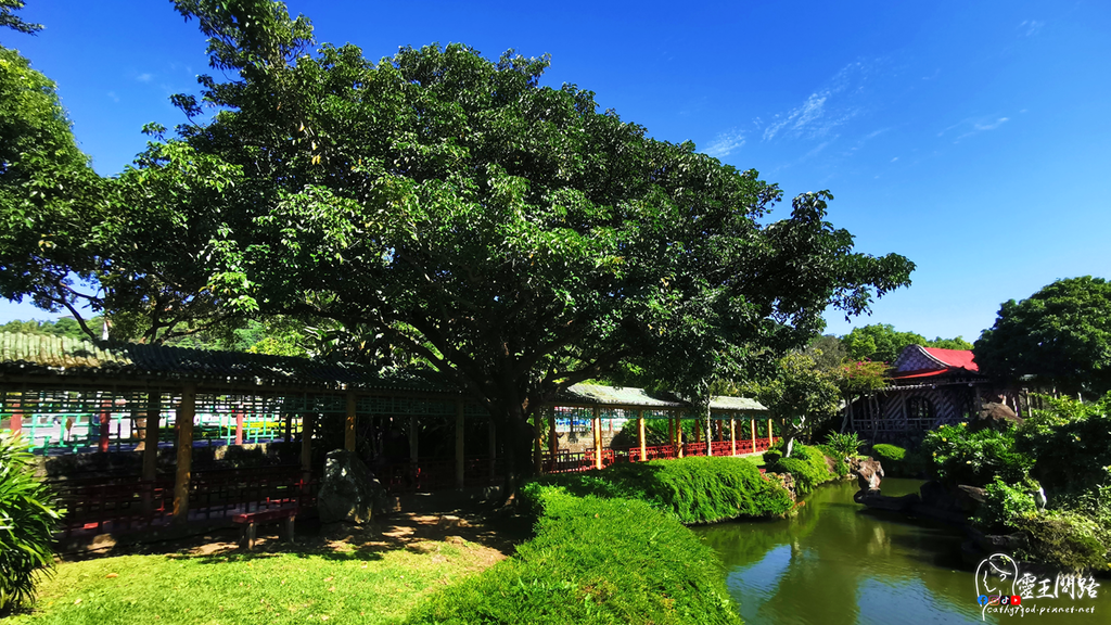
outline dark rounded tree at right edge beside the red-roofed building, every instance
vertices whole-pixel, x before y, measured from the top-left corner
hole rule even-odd
[[[1102,396],[1111,390],[1111,284],[1065,278],[1022,301],[1003,302],[975,341],[985,375],[1007,383]]]

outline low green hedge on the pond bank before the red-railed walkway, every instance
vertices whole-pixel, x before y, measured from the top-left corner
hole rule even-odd
[[[773,517],[791,509],[787,490],[742,458],[622,463],[601,472],[547,475],[537,483],[579,496],[640,499],[685,524]]]

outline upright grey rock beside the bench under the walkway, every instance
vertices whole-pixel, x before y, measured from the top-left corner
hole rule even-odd
[[[367,523],[374,509],[381,507],[384,496],[386,490],[378,478],[354,452],[336,449],[328,453],[324,477],[317,495],[321,523]]]

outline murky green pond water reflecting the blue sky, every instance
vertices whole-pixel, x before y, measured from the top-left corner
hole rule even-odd
[[[914,493],[922,483],[884,479],[884,495]],[[1052,572],[1037,577],[1021,609],[978,603],[977,569],[961,559],[961,534],[948,526],[874,513],[852,500],[855,482],[820,487],[798,516],[693,528],[721,556],[727,583],[749,625],[894,625],[902,623],[1037,623],[1111,625],[1111,583],[1097,597],[1058,588]],[[1005,568],[1005,566],[1003,567]],[[984,567],[981,569],[989,569]],[[1007,572],[1011,574],[1011,572]],[[1010,593],[1015,579],[987,583]],[[1048,584],[1042,578],[1050,577]],[[1029,582],[1030,577],[1027,577]],[[1068,583],[1068,577],[1064,577]],[[1087,578],[1085,578],[1087,579]],[[1083,583],[1082,583],[1083,584]],[[1044,596],[1052,591],[1057,598]],[[1064,588],[1068,591],[1068,588]],[[1023,594],[1021,589],[1019,594]],[[1052,608],[1072,613],[1052,614]],[[1011,609],[1013,614],[991,611]],[[1083,612],[1081,612],[1083,611]]]

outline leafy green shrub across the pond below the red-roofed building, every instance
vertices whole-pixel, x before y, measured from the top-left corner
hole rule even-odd
[[[995,476],[1009,484],[1023,480],[1033,458],[1014,449],[1013,429],[970,431],[960,426],[930,430],[922,442],[931,472],[949,484],[987,486]]]

